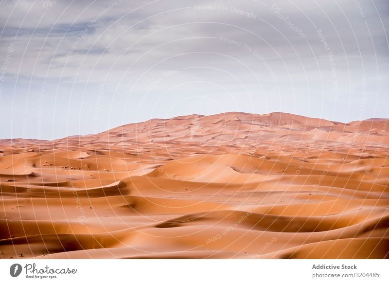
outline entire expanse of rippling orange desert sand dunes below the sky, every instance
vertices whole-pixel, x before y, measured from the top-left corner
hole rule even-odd
[[[0,141],[0,257],[389,258],[389,120],[230,112]]]

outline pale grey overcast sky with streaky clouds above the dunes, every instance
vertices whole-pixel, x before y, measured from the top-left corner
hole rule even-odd
[[[388,0],[0,0],[0,139],[181,115],[389,118]]]

